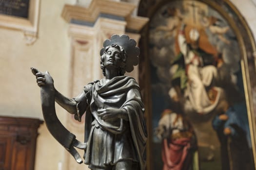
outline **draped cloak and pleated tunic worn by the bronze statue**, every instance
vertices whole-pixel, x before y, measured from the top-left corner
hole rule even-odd
[[[77,116],[86,110],[85,164],[100,167],[130,159],[139,162],[139,169],[144,170],[147,132],[138,83],[129,76],[114,77],[106,84],[94,81],[75,100]],[[126,110],[129,120],[100,119],[97,110],[108,107]]]

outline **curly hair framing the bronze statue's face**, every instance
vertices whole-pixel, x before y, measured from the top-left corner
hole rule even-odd
[[[113,48],[120,51],[120,56],[121,56],[122,62],[121,62],[121,66],[119,67],[119,70],[118,70],[118,75],[123,76],[124,73],[125,73],[127,53],[121,46],[118,46],[117,44],[112,44],[110,46],[107,46],[105,48],[103,54],[101,55],[101,57],[100,57],[100,68],[102,69],[102,73],[103,73],[104,76],[106,76],[104,60],[105,60],[106,53],[107,53],[107,51],[110,47],[113,47]]]

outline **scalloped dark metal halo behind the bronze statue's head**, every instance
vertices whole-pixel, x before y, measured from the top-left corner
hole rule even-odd
[[[136,41],[130,39],[128,35],[112,35],[110,39],[106,39],[103,42],[103,48],[100,50],[100,55],[103,54],[105,48],[112,44],[121,46],[127,53],[125,71],[131,72],[134,66],[138,65],[138,55],[140,53],[139,48],[136,47]]]

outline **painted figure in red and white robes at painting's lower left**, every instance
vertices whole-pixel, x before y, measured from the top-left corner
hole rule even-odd
[[[196,136],[182,114],[165,109],[156,134],[162,140],[163,170],[192,170],[198,166],[194,164],[197,162]]]

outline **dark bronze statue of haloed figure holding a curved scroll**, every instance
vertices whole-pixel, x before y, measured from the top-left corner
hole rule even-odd
[[[125,71],[138,64],[136,41],[113,35],[100,51],[104,78],[85,85],[79,96],[67,98],[54,87],[48,72],[31,68],[40,87],[43,116],[50,133],[82,163],[74,147],[84,150],[92,170],[144,170],[147,139],[144,105],[138,83]],[[80,142],[59,121],[55,101],[75,119],[85,113],[85,142]]]

